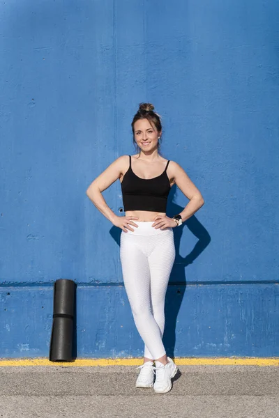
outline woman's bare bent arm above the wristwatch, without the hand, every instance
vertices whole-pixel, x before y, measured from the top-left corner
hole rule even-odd
[[[169,163],[169,169],[169,174],[174,178],[174,182],[176,183],[176,185],[179,187],[179,189],[181,189],[181,192],[190,200],[186,208],[184,208],[182,212],[179,213],[179,215],[181,215],[182,217],[182,222],[185,222],[192,215],[194,215],[194,213],[197,212],[199,208],[201,208],[204,205],[204,199],[202,197],[201,192],[199,192],[199,189],[197,189],[197,187],[190,180],[186,172],[179,164],[177,164],[174,161],[171,161]]]

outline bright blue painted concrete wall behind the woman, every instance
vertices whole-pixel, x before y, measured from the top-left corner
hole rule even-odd
[[[121,230],[86,188],[135,153],[140,102],[204,206],[174,229],[164,342],[175,356],[276,356],[279,3],[0,4],[0,357],[46,357],[53,284],[77,283],[77,355],[137,357]],[[119,180],[103,192],[121,215]],[[188,199],[169,195],[167,215]]]

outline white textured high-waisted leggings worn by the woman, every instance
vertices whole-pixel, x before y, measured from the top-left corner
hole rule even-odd
[[[137,331],[144,341],[144,357],[158,359],[163,346],[165,294],[175,258],[172,228],[155,229],[153,222],[133,221],[134,231],[121,231],[120,259],[124,286]]]

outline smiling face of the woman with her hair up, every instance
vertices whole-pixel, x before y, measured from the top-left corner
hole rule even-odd
[[[160,133],[148,119],[140,119],[134,123],[135,141],[141,150],[153,150],[158,147]]]

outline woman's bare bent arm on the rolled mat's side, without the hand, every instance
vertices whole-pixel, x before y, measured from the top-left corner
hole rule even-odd
[[[125,155],[117,158],[112,164],[110,164],[103,173],[100,173],[100,176],[96,177],[95,180],[91,183],[91,185],[86,190],[86,195],[89,199],[93,202],[98,210],[100,210],[103,215],[109,219],[112,223],[116,219],[117,215],[112,212],[112,210],[107,206],[105,199],[103,198],[102,192],[110,187],[112,183],[114,183],[123,172],[123,164],[127,160],[125,159]]]

